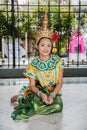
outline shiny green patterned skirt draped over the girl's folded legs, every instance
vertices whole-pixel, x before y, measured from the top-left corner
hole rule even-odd
[[[49,91],[37,86],[40,91],[49,95]],[[27,119],[35,114],[47,115],[51,113],[61,112],[63,109],[63,102],[60,95],[54,98],[54,102],[51,105],[47,105],[42,102],[40,97],[34,93],[30,93],[28,96],[23,96],[18,100],[18,107],[11,114],[13,120]]]

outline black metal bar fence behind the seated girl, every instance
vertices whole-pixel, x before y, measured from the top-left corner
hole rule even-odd
[[[49,26],[60,35],[53,53],[63,58],[66,67],[87,67],[87,5],[80,0],[77,5],[70,0],[48,2]],[[45,5],[39,0],[36,4],[14,0],[0,4],[1,68],[23,68],[36,56],[34,36],[41,26]]]

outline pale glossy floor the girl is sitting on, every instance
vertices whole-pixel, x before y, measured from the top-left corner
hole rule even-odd
[[[0,130],[87,130],[87,77],[64,78],[62,113],[13,121],[10,97],[27,83],[26,79],[0,79]]]

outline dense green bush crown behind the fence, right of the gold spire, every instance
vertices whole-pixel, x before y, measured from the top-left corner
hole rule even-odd
[[[73,24],[75,24],[74,14],[68,13],[68,8],[60,8],[58,14],[53,14],[51,18],[52,28],[59,33],[60,41],[71,37]]]

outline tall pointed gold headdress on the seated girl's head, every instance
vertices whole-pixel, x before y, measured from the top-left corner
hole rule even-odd
[[[54,32],[48,27],[48,7],[46,6],[46,12],[43,18],[42,27],[38,30],[36,34],[36,43],[38,43],[39,39],[42,37],[48,37],[54,42]],[[57,36],[57,35],[56,35]],[[59,37],[57,37],[59,38]]]

